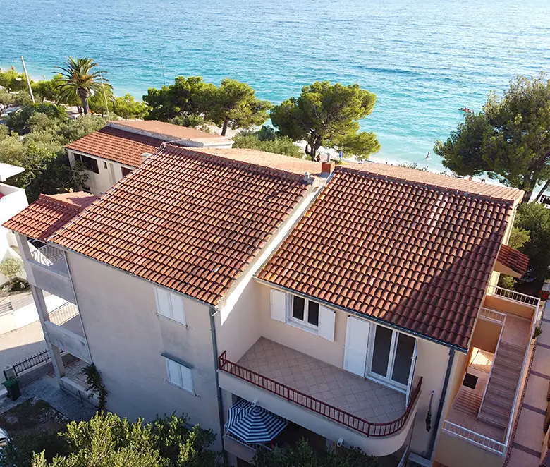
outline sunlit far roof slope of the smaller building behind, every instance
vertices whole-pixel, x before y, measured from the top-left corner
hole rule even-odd
[[[143,131],[147,133],[155,133],[167,141],[171,140],[190,140],[197,142],[205,142],[207,144],[216,140],[231,142],[230,138],[220,136],[215,133],[206,133],[197,130],[197,128],[188,128],[187,126],[173,125],[165,121],[157,120],[116,120],[109,122],[110,126],[126,129],[127,131]],[[152,135],[153,136],[153,135]]]

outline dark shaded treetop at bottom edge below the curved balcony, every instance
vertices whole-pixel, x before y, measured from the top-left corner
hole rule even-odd
[[[338,448],[336,451],[315,452],[305,439],[290,449],[259,449],[253,463],[256,467],[376,467],[374,456],[358,448]]]

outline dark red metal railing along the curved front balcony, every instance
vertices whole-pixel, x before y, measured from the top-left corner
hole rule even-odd
[[[226,351],[219,356],[218,363],[219,369],[229,373],[230,375],[236,376],[241,380],[254,384],[257,387],[261,387],[272,394],[281,396],[287,401],[291,401],[299,406],[309,408],[310,411],[319,413],[326,418],[330,418],[331,420],[341,423],[342,425],[353,428],[353,430],[362,432],[367,436],[389,436],[401,430],[407,421],[410,411],[412,411],[412,407],[415,406],[415,402],[420,395],[420,389],[422,387],[421,377],[410,396],[409,405],[407,406],[405,413],[403,413],[403,415],[397,420],[386,423],[370,423],[367,422],[367,420],[356,417],[351,413],[341,410],[340,408],[331,406],[330,404],[325,404],[323,401],[319,401],[319,399],[315,399],[314,397],[308,396],[307,394],[288,387],[285,384],[271,380],[271,378],[262,376],[255,371],[238,365],[237,363],[233,363],[227,359]]]

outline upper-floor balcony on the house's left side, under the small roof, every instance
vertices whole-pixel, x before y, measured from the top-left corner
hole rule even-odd
[[[75,302],[73,284],[62,250],[52,245],[44,245],[31,253],[27,263],[31,268],[31,274],[27,276],[32,285],[66,301]]]

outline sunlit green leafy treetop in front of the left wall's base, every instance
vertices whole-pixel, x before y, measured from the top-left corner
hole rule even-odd
[[[219,453],[209,450],[216,435],[185,417],[129,423],[114,413],[97,413],[90,421],[67,425],[66,453],[48,462],[36,453],[32,467],[217,467]]]

